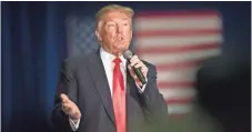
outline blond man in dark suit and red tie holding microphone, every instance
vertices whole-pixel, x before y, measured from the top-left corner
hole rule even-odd
[[[155,67],[133,55],[123,58],[132,39],[133,10],[110,4],[97,14],[98,51],[62,64],[53,126],[60,131],[140,132],[167,116],[157,88]],[[142,84],[131,67],[141,68]],[[152,123],[151,123],[152,122]]]

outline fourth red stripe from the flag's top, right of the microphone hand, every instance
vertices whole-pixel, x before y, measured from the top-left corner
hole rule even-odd
[[[191,60],[191,61],[157,64],[157,69],[158,71],[168,71],[168,70],[175,70],[175,69],[182,69],[182,68],[192,68],[192,67],[200,65],[204,60],[205,59],[199,59],[199,60]]]

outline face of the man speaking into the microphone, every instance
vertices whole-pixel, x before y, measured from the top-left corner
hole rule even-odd
[[[101,47],[119,57],[129,48],[132,39],[131,18],[124,12],[109,12],[100,20],[95,33]]]

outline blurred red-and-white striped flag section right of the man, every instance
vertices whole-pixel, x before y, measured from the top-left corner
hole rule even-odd
[[[191,112],[195,72],[221,53],[222,21],[215,10],[139,12],[134,18],[137,54],[158,69],[158,87],[170,115]]]

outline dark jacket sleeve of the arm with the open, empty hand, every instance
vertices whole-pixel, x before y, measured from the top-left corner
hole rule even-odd
[[[60,94],[61,93],[67,94],[71,101],[77,103],[78,95],[77,91],[78,85],[77,80],[74,79],[73,68],[71,68],[68,61],[65,60],[63,61],[60,70],[60,77],[56,91],[53,110],[51,114],[51,121],[54,130],[59,132],[73,131],[69,122],[69,116],[64,114],[64,112],[62,111]]]

